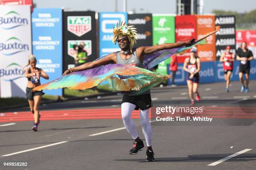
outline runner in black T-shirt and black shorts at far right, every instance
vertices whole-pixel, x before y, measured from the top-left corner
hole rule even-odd
[[[251,60],[253,60],[253,53],[251,50],[248,50],[247,43],[242,42],[242,48],[237,53],[237,60],[240,61],[239,65],[239,80],[242,84],[241,92],[245,90],[245,92],[249,92],[249,75],[250,75],[250,67],[251,67]],[[246,77],[246,86],[244,85],[243,81],[243,74]]]

